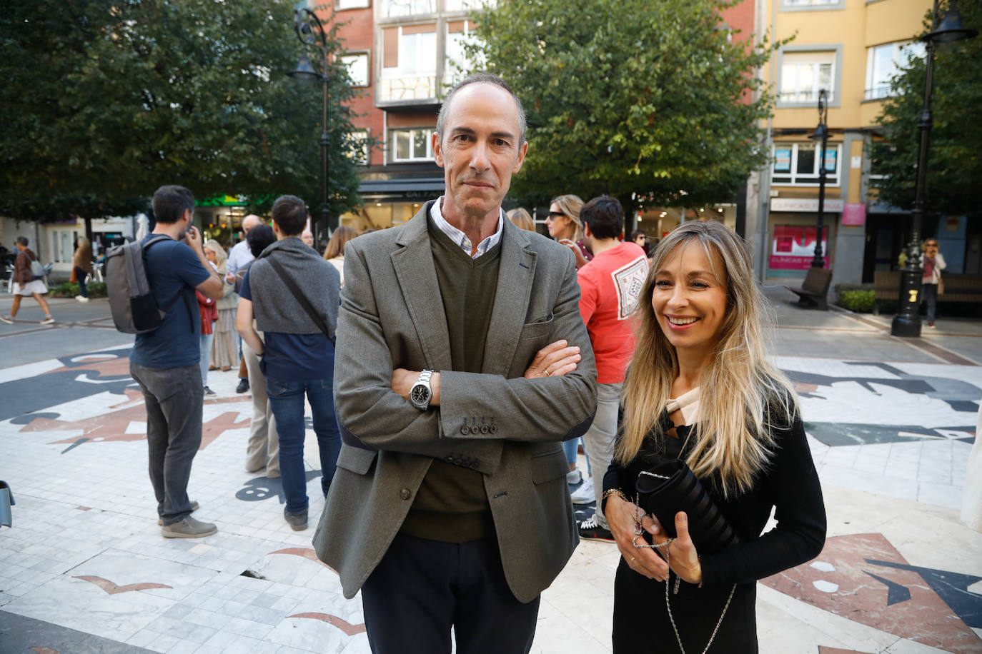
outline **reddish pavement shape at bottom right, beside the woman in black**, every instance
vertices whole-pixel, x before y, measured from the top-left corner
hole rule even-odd
[[[802,564],[761,582],[802,602],[848,620],[957,654],[978,653],[979,637],[915,572],[867,563],[866,559],[906,565],[900,552],[881,533],[833,536],[811,564]],[[831,564],[823,572],[813,564]],[[890,587],[869,573],[902,586],[888,605]],[[824,586],[832,592],[816,587]],[[834,584],[834,585],[829,585]],[[822,650],[840,652],[847,650]]]

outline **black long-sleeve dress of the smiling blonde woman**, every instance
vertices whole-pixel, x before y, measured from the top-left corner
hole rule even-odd
[[[668,413],[660,418],[662,433],[672,428]],[[712,479],[701,479],[706,491],[739,535],[739,542],[712,555],[700,554],[702,587],[682,581],[671,595],[672,613],[687,653],[702,652],[736,583],[733,600],[717,632],[710,653],[756,653],[756,581],[809,561],[825,543],[825,504],[801,419],[795,415],[784,425],[772,422],[774,454],[770,465],[745,493],[724,498]],[[627,466],[615,460],[604,476],[604,489],[620,488],[635,495],[634,481],[644,468],[644,452],[684,458],[691,444],[690,427],[677,427],[678,438],[665,438],[664,450],[649,435],[642,452]],[[685,449],[682,451],[682,444]],[[761,533],[776,507],[777,527]],[[676,584],[671,574],[670,587]],[[647,579],[618,566],[614,585],[614,652],[679,652],[679,644],[665,606],[665,582]]]

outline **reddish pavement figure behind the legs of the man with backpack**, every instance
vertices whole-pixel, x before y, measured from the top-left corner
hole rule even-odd
[[[224,404],[231,402],[243,402],[242,397],[220,397],[204,401],[205,405]],[[220,416],[212,418],[201,427],[201,447],[204,449],[211,441],[228,429],[238,429],[248,427],[249,419],[241,421],[238,411],[228,411]],[[81,435],[72,436],[62,440],[51,441],[51,444],[78,443],[82,442],[112,442],[112,441],[134,441],[146,440],[146,432],[127,433],[126,429],[130,423],[145,423],[146,408],[142,403],[126,409],[111,411],[100,416],[88,418],[82,421],[63,421],[52,418],[35,418],[21,428],[21,432],[27,431],[78,431],[82,429]]]

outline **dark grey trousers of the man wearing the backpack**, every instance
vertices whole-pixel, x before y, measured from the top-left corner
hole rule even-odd
[[[146,444],[157,513],[164,525],[173,525],[191,515],[188,479],[201,445],[201,371],[197,364],[144,368],[131,361],[130,375],[139,383],[146,404]]]

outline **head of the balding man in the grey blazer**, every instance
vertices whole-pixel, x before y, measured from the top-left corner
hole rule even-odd
[[[500,86],[464,86],[451,100],[443,139],[434,133],[433,153],[447,185],[448,220],[494,216],[521,169],[527,143],[519,143],[518,106]]]

